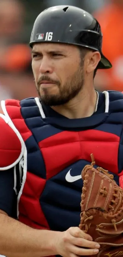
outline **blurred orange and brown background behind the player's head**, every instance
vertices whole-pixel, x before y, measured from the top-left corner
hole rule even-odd
[[[103,32],[103,54],[113,68],[98,70],[99,91],[123,91],[123,0],[0,0],[0,101],[37,96],[31,70],[31,29],[49,6],[74,5],[93,14]]]

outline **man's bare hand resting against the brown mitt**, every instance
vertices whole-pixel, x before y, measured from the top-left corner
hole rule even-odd
[[[94,255],[99,252],[99,247],[98,243],[92,241],[91,236],[78,227],[71,227],[61,232],[55,245],[57,254],[63,257]]]

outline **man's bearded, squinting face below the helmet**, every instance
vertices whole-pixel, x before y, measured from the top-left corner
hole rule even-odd
[[[83,62],[75,46],[34,44],[32,70],[39,97],[44,104],[66,104],[80,92],[84,84]]]

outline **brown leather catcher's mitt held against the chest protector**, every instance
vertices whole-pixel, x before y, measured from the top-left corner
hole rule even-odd
[[[123,190],[108,171],[94,168],[91,158],[91,165],[82,170],[79,227],[100,244],[96,256],[123,256]]]

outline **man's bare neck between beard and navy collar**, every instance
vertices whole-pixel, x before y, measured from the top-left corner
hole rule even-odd
[[[67,104],[51,106],[51,108],[69,119],[79,119],[91,116],[95,111],[96,102],[97,94],[93,88],[90,91],[81,91]]]

